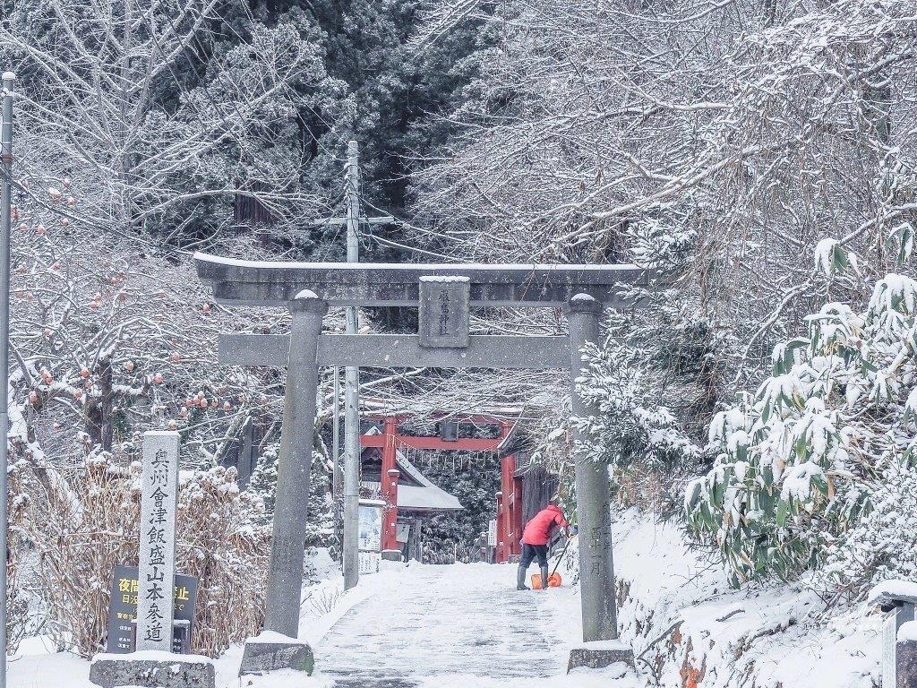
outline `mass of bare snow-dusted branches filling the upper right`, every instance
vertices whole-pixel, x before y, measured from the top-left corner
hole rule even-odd
[[[483,4],[443,6],[434,34],[489,21]],[[690,234],[679,305],[741,343],[715,362],[746,387],[816,303],[896,269],[889,237],[912,241],[906,2],[510,1],[491,24],[456,135],[414,177],[431,227],[415,236],[434,250],[614,262],[635,228]],[[812,274],[826,234],[866,279]]]

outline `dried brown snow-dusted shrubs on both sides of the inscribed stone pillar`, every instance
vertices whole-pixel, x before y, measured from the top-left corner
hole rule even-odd
[[[38,555],[47,632],[84,657],[105,647],[115,566],[137,564],[139,471],[94,450],[80,470],[35,467],[28,478],[22,532]],[[200,579],[192,648],[211,656],[256,633],[263,615],[271,534],[255,523],[260,500],[235,481],[214,468],[183,476],[179,490],[176,566]]]

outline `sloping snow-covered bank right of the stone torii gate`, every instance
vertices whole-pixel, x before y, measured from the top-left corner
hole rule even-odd
[[[700,688],[880,684],[880,617],[865,606],[826,615],[802,585],[731,590],[718,561],[647,516],[618,516],[614,534],[623,638],[666,688],[691,686],[691,676]]]

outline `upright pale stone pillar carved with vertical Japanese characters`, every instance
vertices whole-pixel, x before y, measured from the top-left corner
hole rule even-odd
[[[179,434],[143,435],[137,649],[172,648]]]

